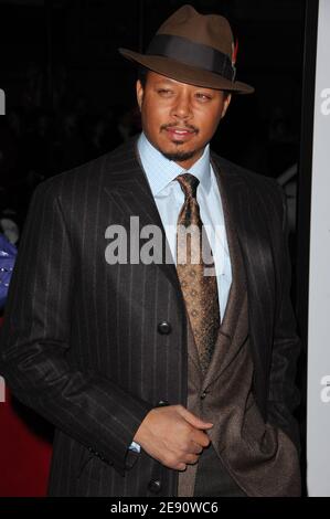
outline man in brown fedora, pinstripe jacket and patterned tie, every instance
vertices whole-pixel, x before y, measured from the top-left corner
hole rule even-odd
[[[298,496],[285,202],[209,149],[253,91],[230,25],[184,6],[120,52],[147,68],[143,133],[39,186],[2,338],[8,382],[56,426],[50,495]],[[181,261],[190,227],[203,250],[191,233]]]

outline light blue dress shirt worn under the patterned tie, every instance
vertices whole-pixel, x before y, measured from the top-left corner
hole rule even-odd
[[[189,170],[167,159],[149,142],[143,133],[138,139],[138,151],[174,262],[177,262],[177,221],[184,202],[184,193],[174,179],[178,174],[189,172],[200,181],[196,199],[214,257],[222,320],[232,284],[232,266],[221,195],[210,162],[210,146],[205,147],[203,156]],[[132,442],[129,448],[139,452],[140,446]]]

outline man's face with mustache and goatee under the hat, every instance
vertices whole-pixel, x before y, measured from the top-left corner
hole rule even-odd
[[[184,169],[203,155],[231,96],[222,91],[180,83],[148,72],[145,88],[137,82],[142,128],[149,141]]]

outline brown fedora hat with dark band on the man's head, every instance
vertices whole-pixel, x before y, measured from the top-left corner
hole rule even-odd
[[[146,54],[119,49],[128,60],[172,80],[237,94],[254,88],[235,81],[234,39],[228,21],[200,14],[191,6],[175,11],[157,31]]]

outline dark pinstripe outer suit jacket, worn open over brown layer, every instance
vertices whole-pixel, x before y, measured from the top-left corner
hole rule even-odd
[[[246,269],[255,399],[264,419],[297,444],[299,341],[284,199],[273,180],[212,160]],[[129,252],[127,263],[106,261],[108,226],[129,230],[132,215],[140,229],[161,229],[156,254],[164,253],[135,140],[42,182],[31,202],[0,369],[15,395],[56,427],[51,495],[155,495],[158,462],[142,451],[135,463],[128,446],[160,401],[187,404],[187,318],[174,265],[135,263]],[[178,473],[164,473],[161,495],[175,496]]]

